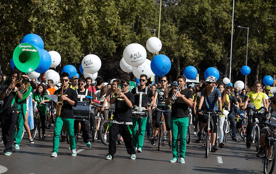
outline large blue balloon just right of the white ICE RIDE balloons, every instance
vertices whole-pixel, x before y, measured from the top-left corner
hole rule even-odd
[[[171,70],[171,67],[172,62],[167,55],[159,54],[152,59],[152,71],[158,76],[166,75]]]

